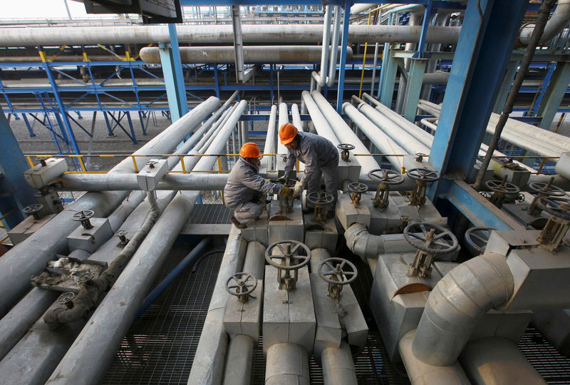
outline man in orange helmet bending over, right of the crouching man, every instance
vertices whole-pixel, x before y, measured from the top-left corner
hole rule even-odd
[[[307,187],[309,194],[318,192],[321,188],[321,175],[323,175],[325,191],[334,197],[326,214],[326,217],[332,218],[338,197],[338,150],[330,140],[319,135],[299,131],[291,123],[281,125],[279,138],[281,144],[289,150],[284,176],[289,176],[297,159],[305,164],[305,173],[301,180],[295,184],[294,196],[301,195],[305,187]],[[312,206],[311,202],[307,202],[303,212],[309,212],[314,208]]]

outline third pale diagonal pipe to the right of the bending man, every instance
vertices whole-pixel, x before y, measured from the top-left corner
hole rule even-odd
[[[343,111],[346,113],[348,118],[360,128],[360,130],[371,140],[372,143],[380,150],[380,152],[392,155],[405,155],[408,154],[406,150],[400,147],[398,143],[386,135],[383,130],[380,130],[371,120],[366,118],[356,107],[351,103],[343,104]],[[395,170],[402,170],[404,167],[403,157],[401,156],[387,156],[388,162],[390,162]]]

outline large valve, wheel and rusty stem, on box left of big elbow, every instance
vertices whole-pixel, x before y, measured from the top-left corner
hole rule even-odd
[[[408,266],[411,276],[425,277],[432,271],[435,255],[457,250],[459,242],[450,230],[433,223],[412,223],[404,229],[404,238],[418,249],[413,262]]]

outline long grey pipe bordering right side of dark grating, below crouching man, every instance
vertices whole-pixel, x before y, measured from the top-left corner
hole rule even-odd
[[[222,265],[219,267],[218,278],[208,313],[204,320],[204,328],[196,349],[188,385],[219,384],[222,381],[224,355],[227,346],[227,333],[224,331],[224,311],[229,294],[226,292],[226,280],[237,272],[242,265],[247,242],[239,230],[232,226],[227,238],[226,251]]]

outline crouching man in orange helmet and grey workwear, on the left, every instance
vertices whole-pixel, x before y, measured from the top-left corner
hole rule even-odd
[[[293,190],[278,183],[269,182],[259,175],[261,153],[255,143],[245,143],[239,150],[239,159],[227,178],[224,200],[234,210],[231,220],[239,229],[257,219],[265,207],[266,194],[293,195]]]

